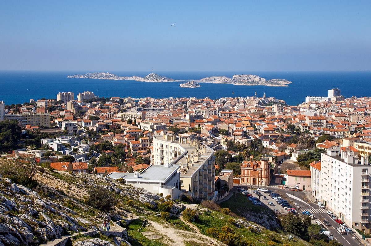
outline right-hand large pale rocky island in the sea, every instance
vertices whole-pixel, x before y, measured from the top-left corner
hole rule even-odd
[[[203,78],[201,83],[219,83],[219,84],[235,84],[244,86],[288,86],[292,82],[285,79],[270,79],[265,80],[256,75],[242,74],[233,75],[232,79],[226,76],[212,76]]]

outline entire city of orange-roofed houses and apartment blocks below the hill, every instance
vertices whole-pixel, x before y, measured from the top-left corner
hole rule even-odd
[[[125,180],[174,200],[220,203],[240,192],[276,215],[332,223],[322,234],[328,240],[338,234],[350,245],[359,240],[354,232],[370,233],[369,97],[344,98],[331,89],[328,97],[308,96],[294,106],[265,94],[76,97],[60,92],[24,104],[2,101],[3,160],[31,158],[52,172]],[[253,221],[268,229],[277,223]]]

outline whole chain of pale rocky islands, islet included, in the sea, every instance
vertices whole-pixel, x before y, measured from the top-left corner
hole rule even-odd
[[[81,78],[81,79],[113,79],[113,80],[135,80],[141,82],[180,82],[183,80],[174,80],[167,77],[158,75],[157,73],[150,73],[144,78],[138,76],[132,77],[120,77],[111,73],[87,73],[87,74],[76,74],[73,76],[67,76],[68,78]],[[266,80],[256,75],[252,74],[240,74],[233,75],[232,78],[226,76],[211,76],[206,77],[201,80],[194,80],[198,83],[218,83],[218,84],[234,84],[234,85],[244,85],[244,86],[288,86],[292,82],[285,79],[270,79]],[[181,86],[190,87],[190,86]],[[199,87],[199,86],[197,86]],[[191,87],[194,88],[194,87]]]

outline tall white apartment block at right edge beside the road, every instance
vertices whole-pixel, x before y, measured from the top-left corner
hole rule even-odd
[[[321,154],[321,201],[348,227],[370,233],[370,173],[367,159],[349,147],[331,147]]]

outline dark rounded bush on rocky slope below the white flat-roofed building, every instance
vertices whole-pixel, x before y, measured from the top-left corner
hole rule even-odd
[[[114,206],[117,204],[116,199],[112,197],[111,193],[102,187],[90,189],[88,195],[89,197],[86,199],[86,204],[104,212],[113,210]]]

